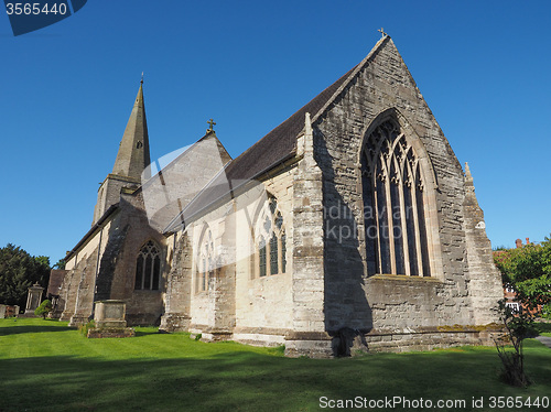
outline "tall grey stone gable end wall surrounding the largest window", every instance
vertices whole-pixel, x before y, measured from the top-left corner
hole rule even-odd
[[[432,166],[433,174],[424,175],[433,198],[426,212],[432,216],[429,279],[367,277],[360,150],[374,120],[389,109]],[[339,210],[337,218],[326,215],[324,220],[327,332],[475,324],[468,286],[477,274],[469,273],[466,262],[462,169],[390,37],[374,48],[349,85],[314,119],[314,138],[325,208]],[[332,225],[354,235],[334,236]]]

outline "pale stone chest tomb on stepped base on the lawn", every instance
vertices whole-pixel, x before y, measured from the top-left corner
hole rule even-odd
[[[88,330],[89,338],[131,337],[134,329],[127,327],[125,301],[99,301],[95,303],[95,328]]]

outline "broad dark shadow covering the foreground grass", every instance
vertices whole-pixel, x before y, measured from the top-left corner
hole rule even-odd
[[[176,359],[18,358],[0,361],[0,376],[6,377],[0,410],[296,411],[318,410],[320,397],[423,397],[465,399],[462,410],[471,411],[472,397],[549,395],[549,365],[550,356],[530,344],[527,366],[536,384],[522,390],[499,382],[493,350],[327,360],[253,353]],[[37,405],[36,399],[47,403]]]

